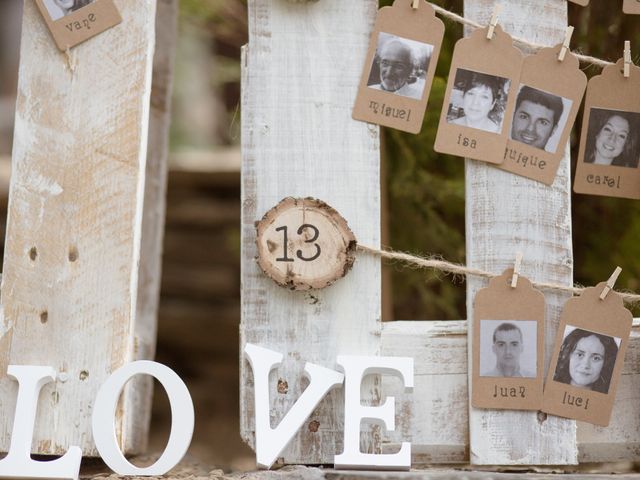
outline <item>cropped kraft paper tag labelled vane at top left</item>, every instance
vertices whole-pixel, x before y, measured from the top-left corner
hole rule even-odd
[[[57,47],[65,51],[122,21],[113,0],[35,0]]]

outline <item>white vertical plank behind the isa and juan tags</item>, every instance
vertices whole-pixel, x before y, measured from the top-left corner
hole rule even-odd
[[[495,0],[465,0],[467,18],[486,24]],[[567,26],[565,0],[502,1],[500,23],[505,31],[545,45],[562,42]],[[569,152],[556,181],[547,187],[500,171],[483,162],[466,162],[467,265],[501,273],[524,253],[522,272],[531,280],[571,285],[573,253]],[[469,278],[467,316],[473,321],[473,300],[485,281]],[[549,364],[558,318],[566,295],[545,294],[545,346]],[[469,349],[469,361],[472,352]],[[476,410],[469,413],[473,464],[571,464],[577,462],[575,422],[535,412]]]

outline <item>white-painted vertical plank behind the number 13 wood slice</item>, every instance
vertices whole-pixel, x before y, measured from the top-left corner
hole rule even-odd
[[[254,222],[286,196],[322,199],[348,221],[359,241],[378,245],[378,128],[351,119],[377,2],[249,2],[249,45],[242,101],[242,321],[246,342],[284,354],[271,385],[277,424],[299,397],[304,363],[335,367],[338,354],[380,352],[380,265],[358,258],[348,278],[313,293],[276,286],[255,263]],[[354,61],[354,59],[362,59]],[[253,444],[253,380],[241,359],[241,433]],[[276,380],[288,383],[277,393]],[[363,382],[365,401],[379,384]],[[342,451],[343,393],[331,393],[283,460],[332,463]],[[316,431],[317,430],[317,431]],[[373,429],[371,429],[373,430]],[[378,448],[363,435],[363,451]]]

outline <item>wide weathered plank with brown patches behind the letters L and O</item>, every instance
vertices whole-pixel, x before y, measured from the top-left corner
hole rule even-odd
[[[39,454],[78,445],[95,456],[91,405],[99,386],[152,351],[135,317],[156,1],[116,4],[123,23],[68,59],[35,2],[25,2],[0,371],[36,364],[62,374],[42,392],[33,443]],[[0,451],[9,446],[15,395],[15,382],[4,376]],[[134,418],[146,414],[146,398],[135,388],[125,397],[118,437],[138,450],[131,442],[141,438],[129,435],[138,428]]]

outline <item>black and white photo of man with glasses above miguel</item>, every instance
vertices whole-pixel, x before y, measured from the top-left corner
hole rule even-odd
[[[367,86],[422,99],[433,45],[380,32]]]

